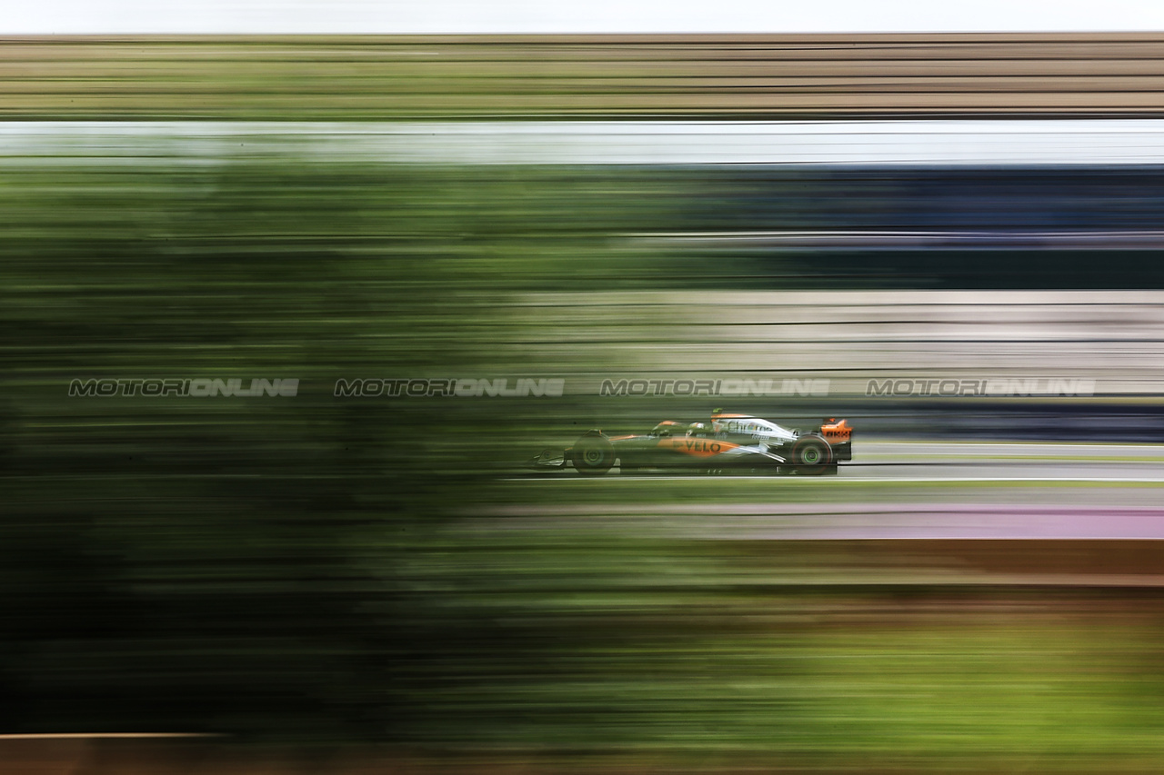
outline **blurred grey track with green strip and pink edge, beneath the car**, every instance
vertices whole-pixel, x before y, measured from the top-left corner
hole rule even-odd
[[[497,516],[729,540],[1164,539],[1164,446],[871,441],[854,456],[837,476],[513,477],[561,505]]]

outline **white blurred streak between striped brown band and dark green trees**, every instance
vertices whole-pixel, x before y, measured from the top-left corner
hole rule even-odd
[[[1084,166],[1164,164],[1164,119],[927,121],[8,121],[0,162]]]

